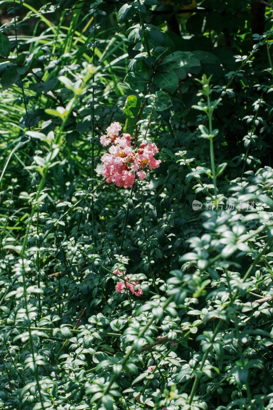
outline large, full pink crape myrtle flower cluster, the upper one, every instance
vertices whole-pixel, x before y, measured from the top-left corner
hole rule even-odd
[[[107,182],[113,182],[117,187],[132,187],[136,175],[144,179],[148,169],[158,168],[160,159],[155,159],[158,153],[155,144],[140,144],[137,149],[131,148],[132,137],[130,134],[120,134],[121,125],[113,122],[106,130],[106,135],[100,137],[102,145],[109,148],[109,153],[101,157],[103,168],[101,175],[106,177]]]

